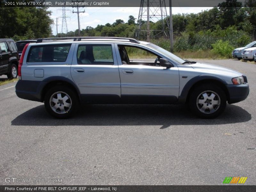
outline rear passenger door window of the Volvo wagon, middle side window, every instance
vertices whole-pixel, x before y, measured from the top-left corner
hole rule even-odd
[[[79,45],[77,63],[81,65],[114,65],[112,45]]]

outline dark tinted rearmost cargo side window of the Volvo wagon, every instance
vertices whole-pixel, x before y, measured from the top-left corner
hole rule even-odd
[[[32,46],[27,62],[65,62],[71,44]]]

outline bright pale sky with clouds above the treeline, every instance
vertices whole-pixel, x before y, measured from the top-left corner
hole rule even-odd
[[[172,13],[198,13],[202,10],[211,9],[212,7],[173,7]],[[52,33],[56,34],[56,18],[62,17],[61,7],[51,7],[49,11],[52,11],[51,18],[54,20],[52,25]],[[72,13],[72,10],[77,11],[76,8],[66,7],[66,16],[68,31],[74,31],[78,29],[77,14]],[[133,15],[138,18],[140,7],[86,7],[80,8],[79,11],[85,11],[80,13],[80,26],[81,29],[87,26],[96,27],[98,24],[105,25],[106,23],[114,23],[117,19],[122,19],[127,22],[129,15]],[[167,7],[167,13],[169,15],[169,7]],[[58,32],[61,32],[62,18],[58,19]]]

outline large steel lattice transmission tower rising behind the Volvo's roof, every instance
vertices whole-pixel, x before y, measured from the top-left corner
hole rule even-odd
[[[161,27],[157,29],[150,29],[150,21],[159,21],[161,23]],[[143,25],[145,23],[147,23],[147,28]],[[168,26],[167,29],[165,29],[165,25]],[[165,0],[141,0],[136,38],[147,38],[147,41],[149,42],[150,37],[168,37],[169,34],[169,23],[167,21]]]

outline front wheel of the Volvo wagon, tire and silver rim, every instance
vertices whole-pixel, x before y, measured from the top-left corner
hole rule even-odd
[[[192,113],[201,118],[219,116],[227,105],[225,92],[215,84],[202,84],[196,87],[189,96],[189,107]]]

